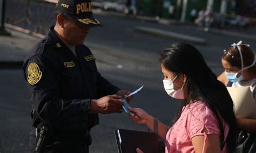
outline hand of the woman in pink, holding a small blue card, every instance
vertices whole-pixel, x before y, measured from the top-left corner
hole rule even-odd
[[[143,109],[129,107],[131,113],[129,114],[131,120],[137,124],[149,125],[154,122],[154,117],[147,114]]]

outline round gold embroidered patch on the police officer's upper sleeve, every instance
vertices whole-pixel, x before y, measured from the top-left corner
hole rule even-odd
[[[31,62],[28,67],[28,82],[30,85],[35,85],[42,78],[43,73],[35,62]]]

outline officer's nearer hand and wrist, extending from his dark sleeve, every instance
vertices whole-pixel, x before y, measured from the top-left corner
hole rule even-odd
[[[90,113],[118,113],[122,110],[122,106],[124,105],[124,102],[117,100],[121,98],[122,96],[118,95],[108,95],[100,99],[93,99],[91,100]]]

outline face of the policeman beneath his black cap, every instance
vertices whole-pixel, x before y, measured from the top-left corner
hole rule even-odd
[[[89,28],[78,26],[72,19],[64,19],[63,37],[69,45],[82,45],[89,33]]]

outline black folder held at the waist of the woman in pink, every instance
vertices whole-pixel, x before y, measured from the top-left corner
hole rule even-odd
[[[119,153],[134,153],[139,148],[145,153],[160,153],[157,134],[119,129],[114,131]]]

